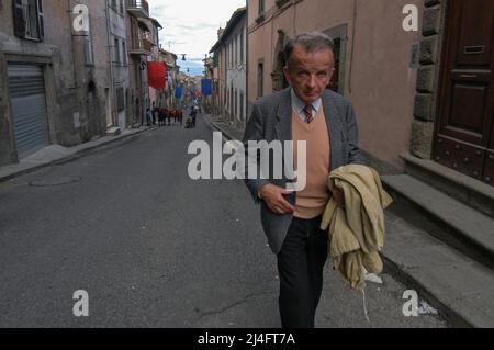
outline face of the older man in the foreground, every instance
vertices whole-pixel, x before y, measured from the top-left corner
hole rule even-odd
[[[299,99],[310,104],[323,95],[333,78],[334,66],[335,55],[330,49],[306,53],[297,45],[293,49],[290,67],[283,71]]]

